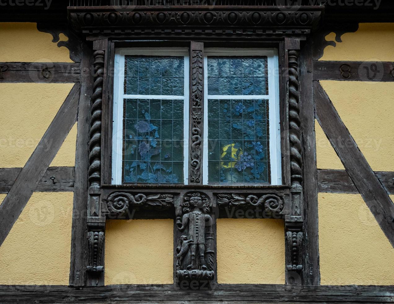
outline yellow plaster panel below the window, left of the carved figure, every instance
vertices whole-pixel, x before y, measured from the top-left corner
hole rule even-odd
[[[108,220],[105,284],[173,284],[173,220]]]

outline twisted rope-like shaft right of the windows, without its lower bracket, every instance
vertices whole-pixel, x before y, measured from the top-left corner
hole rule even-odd
[[[292,186],[302,183],[301,132],[299,118],[298,92],[299,51],[288,51],[289,58],[289,137],[290,137],[290,174]]]

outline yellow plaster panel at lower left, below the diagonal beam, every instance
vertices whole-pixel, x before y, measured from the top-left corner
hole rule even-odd
[[[0,246],[0,285],[68,285],[72,200],[72,192],[33,193]]]

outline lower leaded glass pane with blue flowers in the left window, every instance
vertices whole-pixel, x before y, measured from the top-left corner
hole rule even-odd
[[[183,102],[125,99],[124,183],[183,183]]]

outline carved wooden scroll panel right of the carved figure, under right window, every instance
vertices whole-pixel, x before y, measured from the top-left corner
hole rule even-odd
[[[258,194],[237,194],[219,193],[216,196],[219,208],[240,208],[247,210],[251,208],[262,208],[262,218],[283,218],[284,217],[284,197],[276,193]]]

